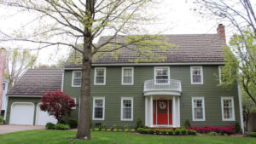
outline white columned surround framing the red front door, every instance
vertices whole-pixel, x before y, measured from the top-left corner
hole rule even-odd
[[[172,100],[172,124],[154,124],[154,100]],[[180,97],[177,95],[145,96],[145,125],[148,127],[180,127]]]

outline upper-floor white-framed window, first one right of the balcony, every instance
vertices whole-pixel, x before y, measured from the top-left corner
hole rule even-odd
[[[203,84],[202,66],[190,67],[191,84]]]

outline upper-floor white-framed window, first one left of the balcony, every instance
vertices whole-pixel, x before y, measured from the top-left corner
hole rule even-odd
[[[122,67],[122,84],[133,84],[133,67]]]

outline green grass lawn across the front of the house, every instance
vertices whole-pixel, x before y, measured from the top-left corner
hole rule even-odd
[[[92,132],[91,141],[73,140],[75,131],[26,130],[0,135],[0,144],[255,144],[256,138],[230,136],[164,136]]]

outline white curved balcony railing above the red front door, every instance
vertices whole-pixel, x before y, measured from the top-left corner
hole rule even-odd
[[[181,92],[181,81],[174,79],[151,79],[144,82],[144,92],[160,90]]]

